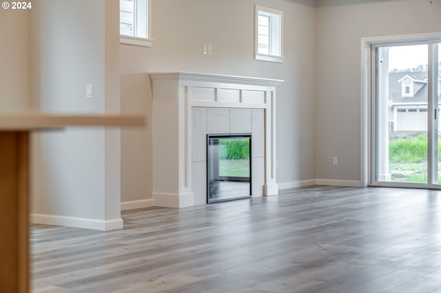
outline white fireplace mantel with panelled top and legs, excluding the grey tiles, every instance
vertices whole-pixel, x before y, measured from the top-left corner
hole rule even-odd
[[[283,80],[192,74],[152,73],[154,206],[194,206],[192,193],[192,107],[264,109],[265,185],[276,183],[276,87]]]

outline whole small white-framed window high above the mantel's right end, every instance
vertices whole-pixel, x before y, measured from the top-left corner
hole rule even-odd
[[[283,63],[283,11],[255,6],[254,58]]]

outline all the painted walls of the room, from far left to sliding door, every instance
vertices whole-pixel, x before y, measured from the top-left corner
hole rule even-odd
[[[441,28],[438,0],[152,1],[152,48],[118,44],[118,0],[34,0],[30,12],[0,10],[1,109],[121,107],[151,119],[147,72],[284,79],[276,104],[280,188],[316,178],[357,184],[361,38]],[[254,60],[254,4],[284,11],[285,63]],[[203,43],[213,45],[212,56],[202,54]],[[93,100],[85,99],[89,83]],[[123,202],[151,204],[151,122],[144,131],[121,132],[121,168],[118,131],[36,135],[33,212],[119,217],[112,207],[120,175]]]

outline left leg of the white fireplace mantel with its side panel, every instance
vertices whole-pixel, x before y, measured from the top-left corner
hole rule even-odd
[[[194,206],[191,188],[189,100],[187,82],[178,74],[153,80],[154,206]]]

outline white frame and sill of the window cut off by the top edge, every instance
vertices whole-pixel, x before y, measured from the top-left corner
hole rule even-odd
[[[120,34],[119,43],[152,47],[152,0],[134,0],[134,6],[134,36]]]

